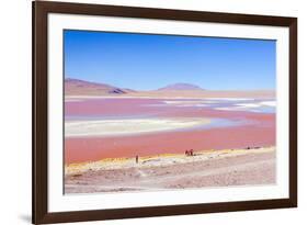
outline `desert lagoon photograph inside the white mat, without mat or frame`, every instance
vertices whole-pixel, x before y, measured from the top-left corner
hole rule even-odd
[[[62,31],[64,194],[274,185],[276,40]]]

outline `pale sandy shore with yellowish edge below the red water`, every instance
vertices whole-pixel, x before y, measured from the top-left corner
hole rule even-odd
[[[65,167],[66,193],[156,191],[275,183],[275,147],[110,158]]]

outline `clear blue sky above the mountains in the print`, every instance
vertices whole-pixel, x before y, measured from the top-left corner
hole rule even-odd
[[[275,89],[275,41],[91,31],[65,31],[64,38],[66,78],[135,90],[175,82]]]

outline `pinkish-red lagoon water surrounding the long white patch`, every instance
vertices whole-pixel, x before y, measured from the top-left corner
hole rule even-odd
[[[275,114],[218,111],[213,108],[161,106],[161,100],[103,99],[67,102],[66,116],[215,117],[242,121],[242,125],[156,132],[141,135],[65,139],[66,164],[103,158],[184,153],[187,149],[223,149],[275,145]],[[253,123],[246,123],[253,122]]]

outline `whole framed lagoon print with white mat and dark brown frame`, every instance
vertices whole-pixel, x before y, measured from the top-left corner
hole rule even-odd
[[[297,206],[297,19],[33,2],[33,223]]]

